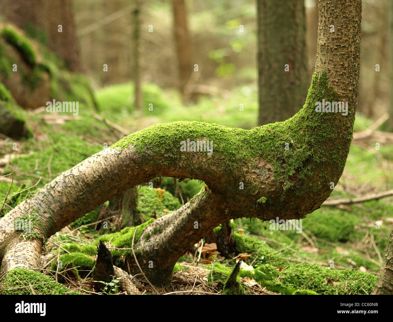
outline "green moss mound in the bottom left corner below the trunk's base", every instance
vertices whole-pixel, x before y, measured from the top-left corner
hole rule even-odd
[[[2,280],[1,294],[8,295],[78,295],[46,276],[34,270],[17,268],[10,270]]]

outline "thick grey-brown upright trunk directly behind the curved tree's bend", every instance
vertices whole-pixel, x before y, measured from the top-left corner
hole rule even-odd
[[[309,77],[304,2],[257,0],[257,8],[259,125],[263,125],[285,121],[303,107]]]

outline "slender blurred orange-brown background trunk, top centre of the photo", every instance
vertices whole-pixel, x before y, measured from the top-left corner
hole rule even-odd
[[[179,66],[178,86],[182,93],[183,103],[187,104],[187,99],[185,99],[185,86],[193,71],[191,41],[187,27],[187,11],[185,9],[184,0],[173,0],[172,4],[174,39],[176,42],[176,54]]]

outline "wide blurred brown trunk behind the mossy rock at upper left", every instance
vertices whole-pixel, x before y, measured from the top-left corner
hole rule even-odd
[[[72,0],[2,0],[2,16],[28,34],[46,34],[47,45],[73,72],[81,71]],[[62,32],[59,32],[59,25]]]

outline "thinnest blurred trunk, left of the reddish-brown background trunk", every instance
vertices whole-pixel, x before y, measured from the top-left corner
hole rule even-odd
[[[142,109],[142,75],[140,62],[140,0],[135,0],[134,16],[134,86],[135,86],[135,109]]]

